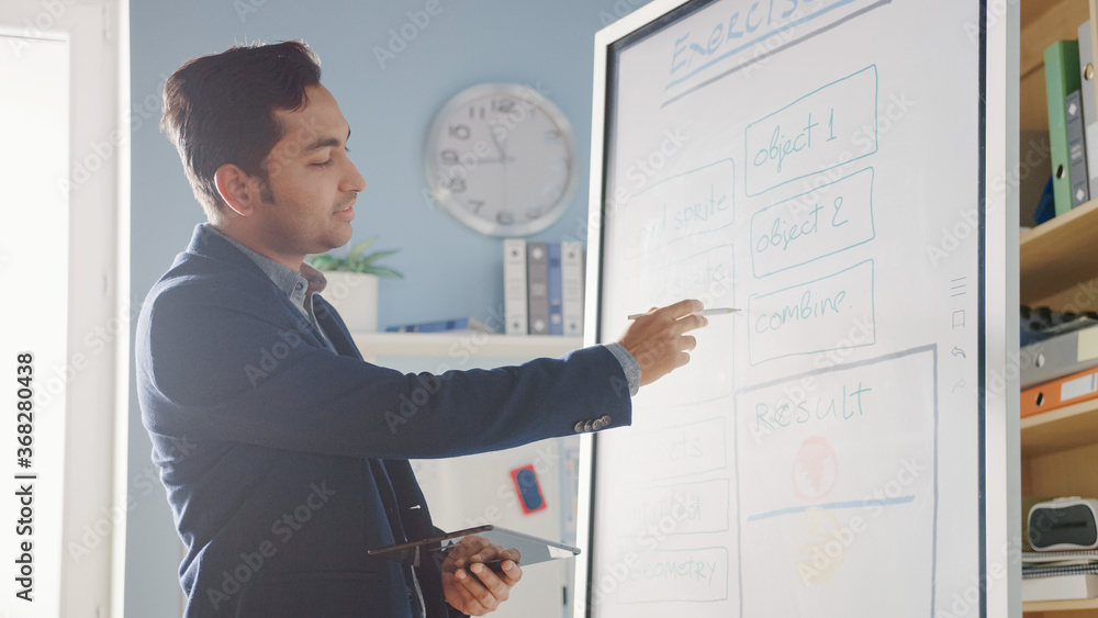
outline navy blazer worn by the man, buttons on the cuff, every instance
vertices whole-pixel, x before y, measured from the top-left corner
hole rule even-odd
[[[198,226],[137,323],[142,420],[176,527],[186,616],[411,616],[410,573],[366,550],[433,535],[408,458],[455,457],[631,420],[606,348],[520,367],[405,374],[337,353],[250,258]],[[590,427],[591,424],[589,423]],[[441,578],[416,572],[430,617]]]

